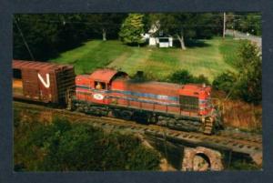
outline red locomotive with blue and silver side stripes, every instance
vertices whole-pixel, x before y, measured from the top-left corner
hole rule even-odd
[[[86,113],[211,134],[220,121],[210,92],[210,86],[143,81],[98,69],[76,76],[72,106]]]

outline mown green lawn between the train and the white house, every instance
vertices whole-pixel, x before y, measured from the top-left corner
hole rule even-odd
[[[218,74],[236,71],[238,41],[215,37],[198,40],[187,47],[179,48],[132,47],[119,41],[92,40],[83,46],[66,51],[52,59],[56,63],[69,63],[76,67],[76,74],[91,73],[97,67],[119,68],[129,75],[142,70],[156,79],[162,79],[177,69],[187,69],[194,76],[203,74],[210,81]]]

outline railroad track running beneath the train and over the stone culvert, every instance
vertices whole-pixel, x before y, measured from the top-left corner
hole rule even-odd
[[[69,117],[73,122],[85,122],[95,127],[104,127],[111,131],[122,133],[140,133],[146,136],[164,137],[167,140],[193,147],[209,147],[218,150],[247,154],[250,156],[262,153],[262,138],[258,135],[248,135],[246,133],[233,133],[232,131],[221,131],[217,135],[207,136],[201,133],[184,132],[159,127],[155,125],[142,125],[134,121],[126,121],[112,117],[96,117],[83,113],[71,112],[65,109],[50,108],[14,102],[15,108],[31,111],[50,112],[61,117]]]

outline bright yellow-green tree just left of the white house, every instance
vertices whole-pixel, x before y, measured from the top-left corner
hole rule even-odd
[[[145,40],[141,36],[144,34],[144,15],[141,14],[129,14],[126,20],[121,25],[119,36],[122,42],[127,45],[137,45],[144,43]]]

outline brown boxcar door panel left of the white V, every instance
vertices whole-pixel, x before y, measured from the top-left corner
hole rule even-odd
[[[37,71],[34,69],[22,70],[23,94],[26,98],[40,99]]]

